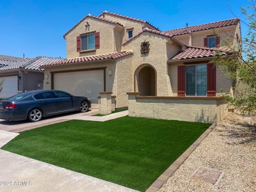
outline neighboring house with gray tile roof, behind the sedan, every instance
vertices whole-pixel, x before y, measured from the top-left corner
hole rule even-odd
[[[0,80],[3,81],[3,89],[0,98],[8,98],[19,92],[43,88],[44,71],[40,65],[59,58],[38,56],[36,58],[15,58],[0,55]]]

